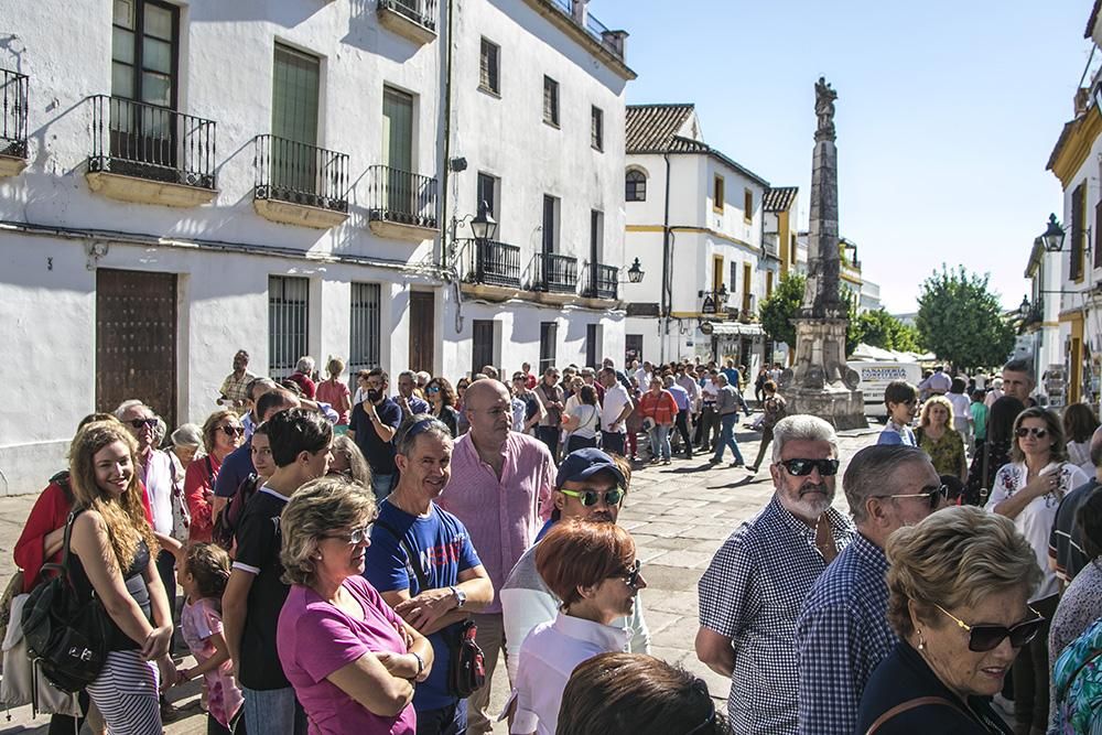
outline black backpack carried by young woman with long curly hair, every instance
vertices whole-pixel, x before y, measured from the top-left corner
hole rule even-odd
[[[82,510],[65,521],[62,563],[42,565],[57,575],[31,592],[21,621],[31,658],[54,687],[69,693],[96,681],[107,661],[107,612],[95,591],[82,598],[69,574],[69,534]]]

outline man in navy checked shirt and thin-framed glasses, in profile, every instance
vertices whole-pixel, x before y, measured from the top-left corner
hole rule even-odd
[[[796,623],[799,733],[852,733],[861,693],[898,636],[887,620],[893,531],[914,526],[946,504],[929,455],[915,446],[866,446],[842,477],[857,533],[811,587]]]

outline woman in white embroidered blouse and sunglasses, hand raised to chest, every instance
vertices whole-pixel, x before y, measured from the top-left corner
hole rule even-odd
[[[987,510],[1014,521],[1034,549],[1042,573],[1034,607],[1051,619],[1059,602],[1060,583],[1048,563],[1049,536],[1060,500],[1088,480],[1068,462],[1063,425],[1055,413],[1029,408],[1014,421],[1011,463],[995,473]],[[1048,623],[1038,640],[1014,664],[1014,713],[1019,728],[1044,732],[1048,717]],[[1028,732],[1023,729],[1023,732]]]

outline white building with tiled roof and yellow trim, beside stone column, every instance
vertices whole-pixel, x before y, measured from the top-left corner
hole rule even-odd
[[[648,274],[624,289],[628,355],[753,374],[773,359],[756,314],[780,273],[764,248],[768,182],[704,143],[692,105],[629,106],[626,144],[626,257]]]

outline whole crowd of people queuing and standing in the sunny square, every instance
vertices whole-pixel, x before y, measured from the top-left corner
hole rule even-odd
[[[14,555],[32,588],[75,512],[74,584],[110,625],[80,702],[94,732],[161,732],[165,690],[196,679],[208,733],[1102,726],[1102,430],[1089,408],[1033,406],[1022,365],[1005,394],[972,397],[966,441],[940,379],[888,386],[879,442],[847,457],[849,515],[834,429],[789,415],[779,366],[761,370],[747,469],[768,455],[774,494],[698,588],[695,652],[731,679],[726,716],[650,657],[646,569],[617,521],[639,435],[648,463],[744,464],[745,370],[487,366],[454,387],[403,371],[392,393],[381,369],[352,390],[325,367],[269,379],[242,350],[202,426],[170,434],[129,400],[77,428]],[[512,691],[491,712],[499,664]]]

